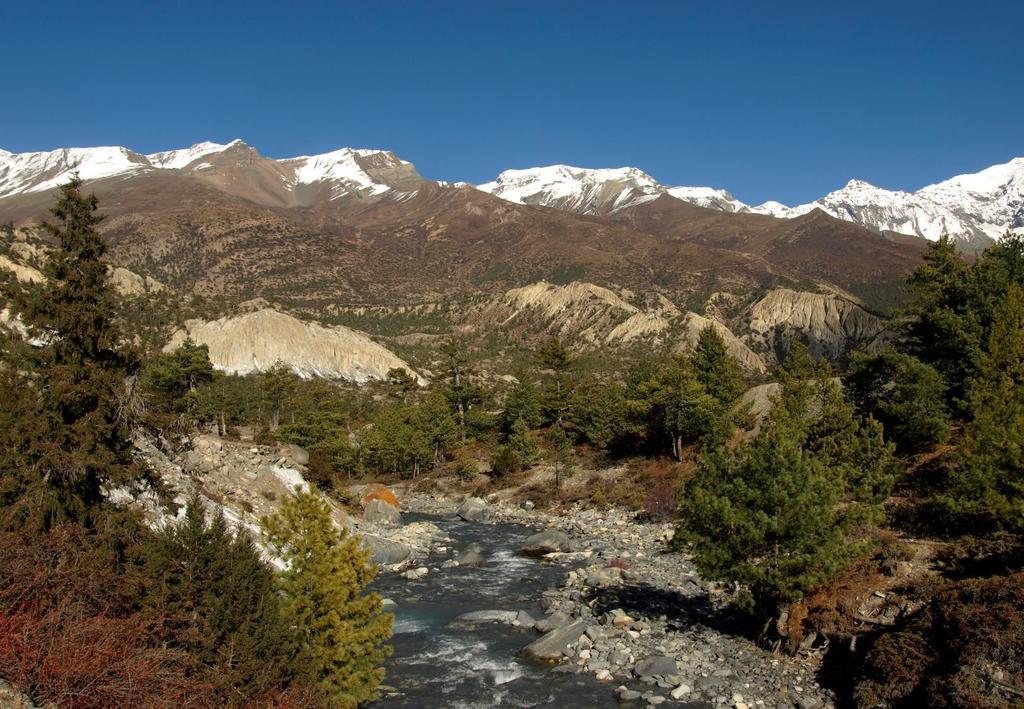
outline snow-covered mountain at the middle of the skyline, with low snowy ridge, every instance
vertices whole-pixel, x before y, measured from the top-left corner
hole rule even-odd
[[[541,205],[580,214],[607,215],[670,194],[685,202],[723,211],[746,207],[724,190],[669,187],[635,167],[590,169],[550,165],[506,170],[477,190],[519,204]]]

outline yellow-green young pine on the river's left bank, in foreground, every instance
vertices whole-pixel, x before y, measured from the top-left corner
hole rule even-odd
[[[370,552],[315,493],[289,498],[263,520],[267,541],[287,565],[279,575],[284,614],[298,630],[301,652],[331,706],[354,708],[374,699],[391,649],[392,616],[368,593],[376,575]]]

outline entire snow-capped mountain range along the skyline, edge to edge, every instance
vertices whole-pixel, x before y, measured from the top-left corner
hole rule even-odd
[[[226,144],[200,142],[150,155],[119,147],[20,154],[0,150],[0,199],[52,190],[74,170],[85,180],[176,172],[259,204],[286,207],[343,199],[365,203],[402,201],[415,195],[425,181],[412,163],[393,153],[352,148],[280,160],[260,156],[242,140]],[[595,216],[614,215],[660,195],[725,212],[781,218],[821,209],[878,232],[930,240],[948,234],[968,247],[983,247],[1008,228],[1024,230],[1024,158],[912,193],[853,179],[841,190],[796,207],[779,202],[751,206],[725,190],[666,185],[635,167],[551,165],[506,170],[477,189],[509,202]]]

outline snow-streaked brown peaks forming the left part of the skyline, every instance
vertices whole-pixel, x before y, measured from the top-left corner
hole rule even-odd
[[[0,151],[0,199],[45,192],[74,171],[84,180],[132,178],[159,171],[197,176],[256,201],[308,204],[315,196],[403,198],[423,179],[412,163],[385,151],[343,148],[333,153],[273,160],[242,140],[201,142],[182,150],[143,155],[127,148],[68,148],[48,153]]]

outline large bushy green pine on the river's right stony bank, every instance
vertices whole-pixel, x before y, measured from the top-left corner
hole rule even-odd
[[[862,553],[894,483],[892,450],[799,347],[761,433],[701,460],[686,487],[678,543],[702,575],[737,583],[765,614],[824,586]]]

